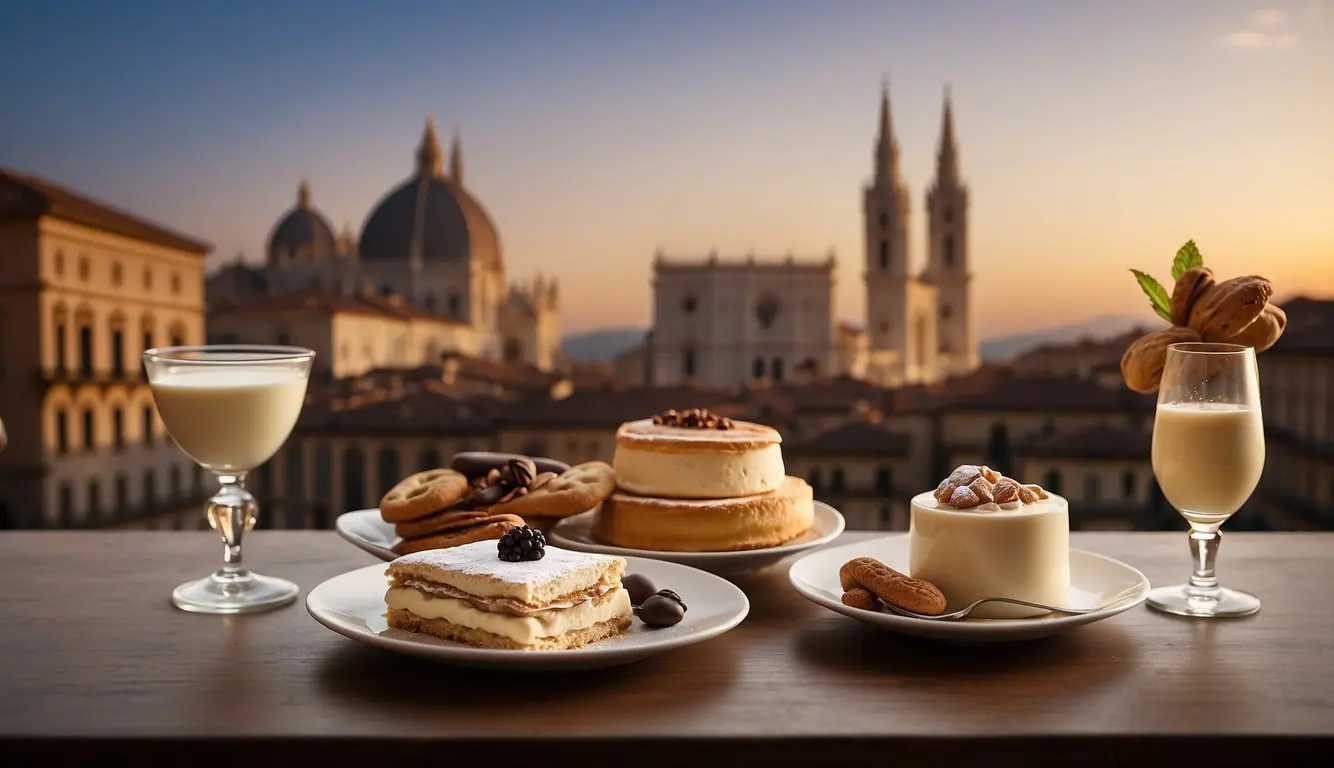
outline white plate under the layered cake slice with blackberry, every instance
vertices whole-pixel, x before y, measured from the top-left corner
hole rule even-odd
[[[703,643],[736,627],[750,612],[746,593],[731,583],[675,563],[627,557],[627,573],[643,573],[659,589],[686,603],[675,627],[651,628],[638,617],[630,631],[574,651],[499,651],[476,648],[391,628],[384,620],[384,565],[367,565],[311,589],[305,609],[329,629],[370,645],[460,667],[514,669],[595,669],[638,661],[654,653]]]

